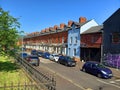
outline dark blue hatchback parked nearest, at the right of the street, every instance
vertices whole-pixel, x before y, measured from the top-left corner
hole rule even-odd
[[[109,68],[94,61],[87,61],[83,65],[82,71],[96,75],[99,78],[111,78],[113,76],[112,71]]]

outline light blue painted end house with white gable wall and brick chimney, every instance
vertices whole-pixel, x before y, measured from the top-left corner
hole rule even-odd
[[[80,17],[79,23],[71,22],[69,26],[71,28],[68,31],[68,56],[80,60],[80,33],[98,24],[94,20],[86,21],[86,18]]]

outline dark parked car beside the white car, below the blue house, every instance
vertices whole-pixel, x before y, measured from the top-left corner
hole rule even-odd
[[[66,66],[76,66],[76,61],[74,61],[71,57],[69,56],[60,56],[58,63],[64,64]]]

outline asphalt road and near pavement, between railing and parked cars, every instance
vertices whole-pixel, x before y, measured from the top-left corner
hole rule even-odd
[[[100,79],[80,71],[79,67],[66,67],[40,58],[39,68],[56,76],[57,90],[120,90],[120,79]]]

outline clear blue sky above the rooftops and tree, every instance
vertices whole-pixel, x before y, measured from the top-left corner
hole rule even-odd
[[[41,31],[80,16],[102,24],[118,8],[120,0],[0,0],[0,7],[20,18],[20,30]]]

